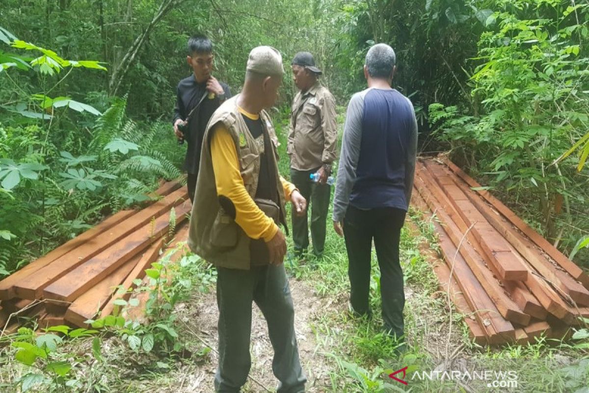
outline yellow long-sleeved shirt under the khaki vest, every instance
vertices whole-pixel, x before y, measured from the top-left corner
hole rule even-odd
[[[241,108],[239,111],[252,120],[259,118],[259,115],[247,113]],[[278,227],[257,207],[252,197],[247,193],[241,178],[237,150],[229,130],[222,123],[218,123],[212,131],[211,158],[217,195],[225,196],[231,200],[236,212],[235,222],[247,236],[269,242],[276,235]],[[296,187],[282,176],[280,176],[280,182],[284,190],[284,199],[290,200],[290,194]]]

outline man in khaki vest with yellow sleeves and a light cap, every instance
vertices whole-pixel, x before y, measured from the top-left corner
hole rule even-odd
[[[277,138],[264,111],[276,101],[283,73],[276,49],[252,49],[243,91],[217,109],[204,134],[188,245],[217,268],[217,392],[239,392],[246,382],[253,301],[268,323],[277,392],[305,391],[278,225],[286,229],[285,200],[298,214],[307,202],[278,172]]]

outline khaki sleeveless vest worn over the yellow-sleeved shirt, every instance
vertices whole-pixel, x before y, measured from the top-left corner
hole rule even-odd
[[[263,144],[256,143],[247,128],[241,113],[237,109],[239,95],[225,101],[213,114],[207,124],[203,137],[203,147],[200,157],[200,169],[194,204],[190,217],[190,232],[188,233],[188,246],[198,256],[209,263],[219,267],[230,269],[250,269],[250,241],[252,240],[241,227],[227,214],[219,203],[215,176],[223,176],[223,173],[214,173],[213,160],[211,158],[210,135],[217,123],[229,130],[239,159],[241,177],[247,193],[254,199],[260,174],[260,154],[264,151]],[[272,121],[266,111],[260,113],[264,133],[267,133],[272,141],[272,160],[269,170],[276,174],[277,193],[279,196],[280,221],[284,226],[284,190],[280,182],[278,171],[278,152],[276,149],[278,139],[272,126]],[[262,156],[263,157],[263,156]],[[266,159],[266,158],[264,158]]]

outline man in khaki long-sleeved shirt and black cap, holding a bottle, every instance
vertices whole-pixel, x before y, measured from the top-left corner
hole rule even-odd
[[[329,210],[331,174],[336,156],[337,124],[333,95],[319,83],[321,70],[313,55],[299,52],[292,61],[294,84],[299,93],[290,113],[287,151],[290,156],[290,180],[311,209],[313,254],[320,257],[325,248],[325,226]],[[317,174],[315,181],[310,176]],[[292,215],[294,252],[302,256],[309,247],[307,214]]]

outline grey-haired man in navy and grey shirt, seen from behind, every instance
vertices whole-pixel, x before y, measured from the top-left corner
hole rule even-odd
[[[368,89],[352,96],[343,131],[333,199],[333,228],[348,251],[350,306],[370,316],[372,240],[380,267],[385,331],[405,334],[403,272],[399,238],[411,200],[417,150],[417,121],[408,98],[391,87],[395,52],[377,44],[366,54]]]

